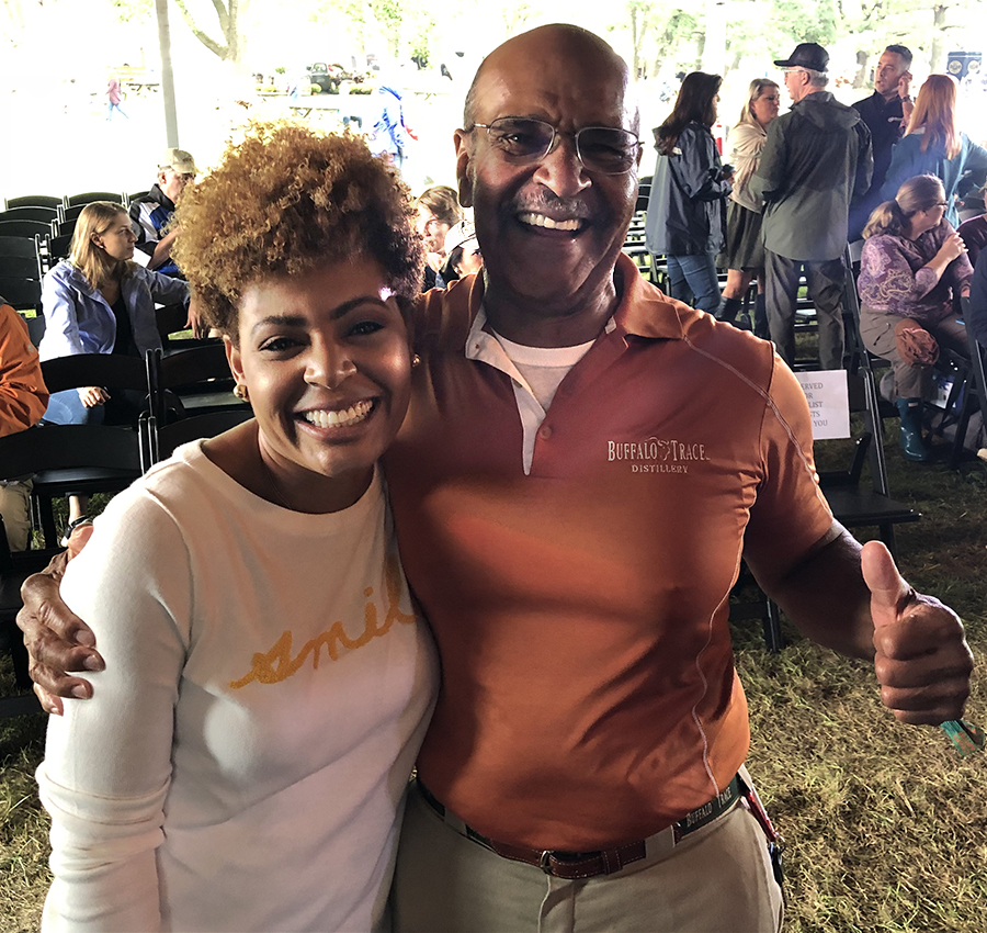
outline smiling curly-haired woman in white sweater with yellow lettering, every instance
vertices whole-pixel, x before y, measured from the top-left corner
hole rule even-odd
[[[178,220],[256,419],[118,495],[66,572],[106,668],[37,773],[43,930],[384,930],[438,679],[376,465],[410,395],[412,209],[362,140],[274,124]]]

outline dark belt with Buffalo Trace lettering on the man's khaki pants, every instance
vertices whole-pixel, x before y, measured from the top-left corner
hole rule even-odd
[[[445,819],[446,809],[432,793],[426,787],[421,780],[418,782],[418,789],[426,802],[443,819]],[[682,836],[695,832],[697,829],[713,822],[717,817],[723,816],[737,800],[740,798],[740,779],[735,776],[734,779],[721,791],[716,797],[697,807],[691,813],[669,827],[666,832],[671,831],[674,834],[674,841],[678,842]],[[541,868],[546,875],[554,875],[556,878],[563,878],[574,881],[580,878],[595,878],[599,875],[612,875],[620,872],[624,866],[634,862],[639,862],[647,856],[647,841],[628,842],[626,845],[616,848],[601,850],[598,852],[561,852],[559,850],[540,850],[525,848],[522,845],[511,845],[507,842],[497,842],[492,839],[481,835],[476,830],[464,824],[467,839],[486,846],[491,852],[496,852],[503,858],[510,858],[513,862],[523,862],[525,865],[534,865]]]

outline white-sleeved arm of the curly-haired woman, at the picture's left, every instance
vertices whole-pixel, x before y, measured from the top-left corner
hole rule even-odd
[[[37,772],[52,814],[43,930],[156,931],[172,731],[189,643],[191,572],[181,535],[143,491],[114,501],[64,593],[100,639],[106,670],[88,702],[48,726]]]

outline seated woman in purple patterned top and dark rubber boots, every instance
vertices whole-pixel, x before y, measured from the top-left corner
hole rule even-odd
[[[860,333],[871,352],[890,361],[909,460],[929,459],[922,401],[932,391],[939,345],[967,352],[954,300],[969,294],[973,268],[945,209],[942,182],[920,175],[876,207],[863,232]]]

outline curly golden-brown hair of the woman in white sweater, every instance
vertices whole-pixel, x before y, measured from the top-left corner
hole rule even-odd
[[[424,251],[408,189],[349,135],[252,123],[222,165],[182,193],[172,255],[212,327],[236,339],[243,290],[326,262],[375,260],[410,301]]]

